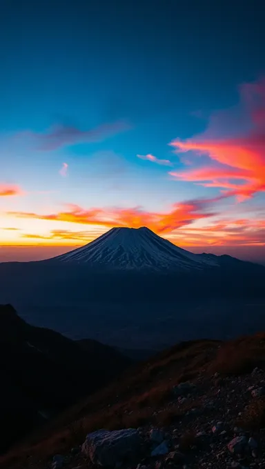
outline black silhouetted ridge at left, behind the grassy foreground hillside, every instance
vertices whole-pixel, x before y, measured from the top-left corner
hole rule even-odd
[[[30,326],[0,305],[0,452],[77,399],[106,385],[130,365],[117,350],[86,346]]]

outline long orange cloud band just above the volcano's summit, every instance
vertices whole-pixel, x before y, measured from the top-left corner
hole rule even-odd
[[[158,233],[171,232],[196,220],[212,217],[210,207],[220,197],[214,199],[194,199],[175,203],[168,212],[147,212],[141,207],[133,208],[90,208],[84,209],[75,204],[68,204],[66,210],[52,214],[34,212],[8,212],[14,217],[66,221],[83,225],[97,225],[106,228],[128,226],[139,228],[148,226]]]

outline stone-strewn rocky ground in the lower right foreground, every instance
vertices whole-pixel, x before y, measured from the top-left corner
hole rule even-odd
[[[188,409],[188,410],[186,410]],[[160,428],[97,430],[47,468],[265,468],[265,373],[233,379],[218,373],[173,388],[157,413],[175,422]],[[259,421],[264,428],[259,427]],[[255,427],[246,430],[245,427]]]

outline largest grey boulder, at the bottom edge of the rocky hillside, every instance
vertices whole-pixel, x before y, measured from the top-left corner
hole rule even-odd
[[[82,452],[93,464],[115,467],[124,459],[137,456],[142,439],[135,428],[124,430],[97,430],[88,433]]]

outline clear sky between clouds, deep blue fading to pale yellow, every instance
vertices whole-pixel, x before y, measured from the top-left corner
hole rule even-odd
[[[71,245],[109,228],[99,223],[95,230],[97,223],[86,220],[51,222],[50,214],[69,212],[63,208],[66,204],[84,210],[111,212],[126,207],[161,214],[171,213],[177,203],[212,200],[224,193],[216,186],[198,185],[197,180],[172,177],[169,172],[197,168],[203,159],[198,155],[195,159],[196,151],[190,148],[182,156],[175,154],[169,143],[203,136],[215,116],[218,121],[221,110],[227,110],[227,116],[233,108],[238,111],[242,83],[262,80],[265,32],[261,12],[262,1],[245,6],[239,1],[2,0],[0,188],[14,186],[19,194],[0,198],[0,241],[5,245]],[[225,137],[224,119],[219,120]],[[233,134],[242,121],[233,118],[226,135]],[[119,123],[115,131],[102,130],[115,123]],[[47,148],[49,135],[54,138],[58,128],[68,134],[67,141]],[[75,129],[74,137],[71,129]],[[99,130],[97,141],[86,133],[95,129]],[[77,132],[83,132],[83,137],[77,137]],[[213,161],[210,150],[205,153]],[[145,161],[137,154],[155,155],[172,166]],[[68,165],[65,176],[59,172],[63,163]],[[231,210],[234,219],[237,213],[246,219],[251,209],[260,230],[262,185],[248,192],[236,212],[232,195],[212,201],[200,212],[215,213],[216,223],[216,219],[227,219]],[[28,213],[34,213],[35,219],[27,219]],[[48,215],[45,221],[38,217],[43,214]],[[130,224],[128,219],[119,220]],[[197,214],[188,220],[189,230],[194,223],[199,229]],[[201,221],[205,224],[206,217]],[[71,237],[70,232],[80,231],[81,224],[87,236]],[[177,234],[177,241],[175,236],[185,226],[179,226],[177,216],[177,223],[164,234],[183,244],[186,233]],[[6,228],[17,228],[17,232],[11,234]],[[54,239],[52,230],[68,230],[69,238]],[[257,235],[260,252],[262,236]],[[220,239],[224,243],[224,232]],[[202,235],[200,244],[209,243],[213,241]],[[195,244],[199,246],[199,233],[196,243],[190,241],[190,246]]]

